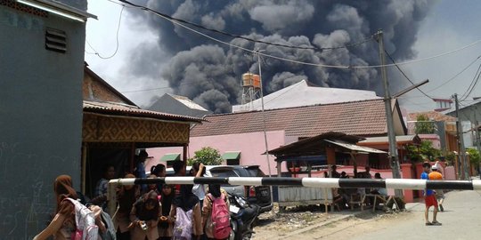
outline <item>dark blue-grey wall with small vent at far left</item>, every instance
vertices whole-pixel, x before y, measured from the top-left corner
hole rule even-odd
[[[66,53],[45,50],[45,28],[66,32]],[[0,32],[0,239],[31,239],[54,212],[53,180],[79,188],[86,30],[0,5]]]

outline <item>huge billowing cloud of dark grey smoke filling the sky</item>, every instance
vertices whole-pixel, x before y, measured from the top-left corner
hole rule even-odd
[[[378,29],[384,31],[387,52],[395,60],[412,59],[420,22],[430,9],[422,0],[385,1],[137,1],[138,4],[164,12],[175,18],[216,28],[232,34],[249,36],[265,42],[294,46],[336,47],[355,44]],[[228,112],[240,102],[240,77],[257,73],[257,58],[232,46],[216,43],[204,36],[173,25],[167,20],[139,10],[132,10],[138,22],[148,24],[159,35],[158,52],[149,47],[137,50],[131,64],[149,66],[149,60],[165,60],[167,68],[161,78],[174,93],[184,95],[215,113]],[[337,50],[289,49],[247,40],[232,39],[202,31],[231,44],[266,54],[311,63],[344,66],[379,64],[375,41]],[[306,79],[319,86],[370,89],[379,91],[382,84],[378,68],[318,68],[283,60],[263,58],[262,76],[265,94]],[[140,71],[145,73],[145,71]],[[159,77],[159,76],[158,76]],[[159,81],[162,81],[159,77]],[[402,85],[390,79],[391,85]]]

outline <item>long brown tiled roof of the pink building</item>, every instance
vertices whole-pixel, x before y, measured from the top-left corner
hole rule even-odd
[[[261,111],[205,116],[192,137],[262,132]],[[361,100],[298,108],[265,110],[267,131],[285,130],[286,136],[313,137],[324,132],[359,136],[387,134],[385,106],[380,100]]]

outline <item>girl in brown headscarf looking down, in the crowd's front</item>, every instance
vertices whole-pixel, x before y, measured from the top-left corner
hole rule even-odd
[[[160,217],[160,205],[158,195],[155,191],[150,191],[134,204],[130,212],[130,220],[132,223],[129,228],[132,229],[132,239],[156,240],[159,238],[159,230],[157,225]]]

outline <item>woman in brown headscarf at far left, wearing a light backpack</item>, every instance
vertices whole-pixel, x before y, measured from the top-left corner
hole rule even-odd
[[[70,197],[77,199],[77,193],[72,188],[72,179],[69,175],[60,175],[53,183],[53,191],[56,198],[55,217],[50,224],[34,240],[47,239],[54,236],[55,240],[70,239],[77,229],[75,224],[75,206],[71,202],[63,201]]]

